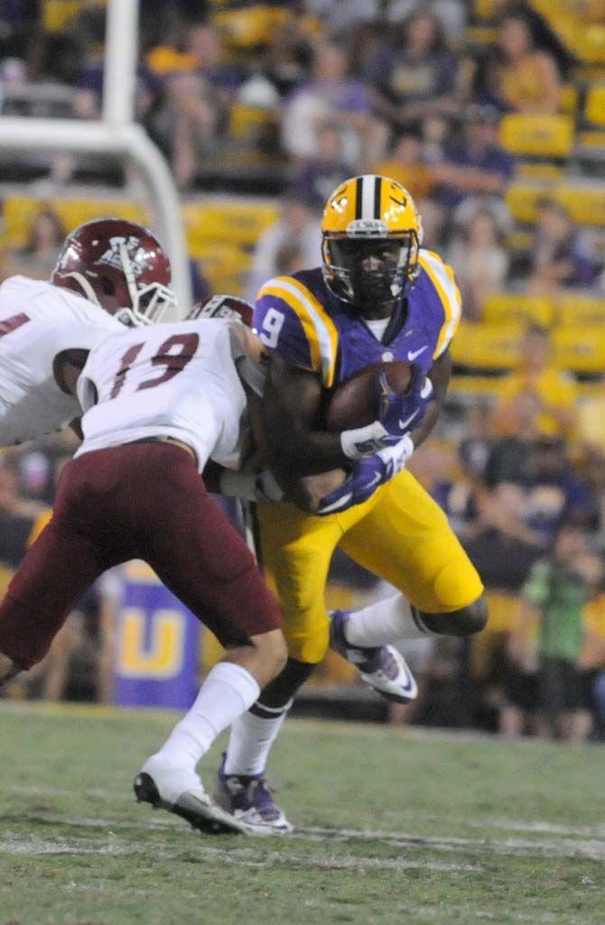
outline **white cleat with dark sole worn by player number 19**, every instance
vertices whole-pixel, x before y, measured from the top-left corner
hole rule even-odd
[[[145,761],[137,774],[134,793],[137,802],[151,803],[154,809],[167,809],[200,832],[250,832],[245,822],[216,806],[195,772],[167,768],[154,755]]]

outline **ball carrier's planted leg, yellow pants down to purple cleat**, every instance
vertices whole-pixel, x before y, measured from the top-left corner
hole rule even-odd
[[[260,551],[284,614],[289,659],[252,709],[233,723],[214,795],[223,808],[246,820],[257,833],[291,828],[266,788],[265,765],[292,697],[327,650],[324,592],[340,535],[334,518],[305,517],[286,504],[259,509]]]

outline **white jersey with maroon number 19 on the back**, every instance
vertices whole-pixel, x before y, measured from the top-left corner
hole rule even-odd
[[[76,456],[150,437],[240,464],[246,394],[236,369],[246,328],[222,318],[130,329],[93,350],[78,381],[84,441]]]

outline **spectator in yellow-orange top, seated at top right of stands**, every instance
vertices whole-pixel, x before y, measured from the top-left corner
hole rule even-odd
[[[502,110],[556,113],[561,104],[561,78],[553,56],[537,49],[523,14],[500,21],[495,47],[488,53],[480,96]]]

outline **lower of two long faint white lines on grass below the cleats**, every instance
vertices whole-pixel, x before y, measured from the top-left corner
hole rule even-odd
[[[184,845],[184,849],[191,853],[192,848]],[[0,854],[8,855],[113,855],[127,856],[144,854],[147,846],[139,842],[120,840],[115,845],[95,845],[90,841],[81,840],[70,843],[63,839],[50,841],[37,837],[23,837],[7,835],[0,839]],[[297,867],[309,869],[329,870],[362,870],[373,868],[377,870],[437,870],[443,873],[459,873],[462,871],[482,872],[480,864],[456,864],[445,861],[416,861],[402,857],[357,857],[356,855],[340,855],[339,857],[314,857],[302,853],[288,851],[270,851],[259,857],[256,848],[217,848],[210,845],[194,846],[196,854],[208,860],[220,860],[221,863],[243,865],[253,868],[270,868],[278,864],[288,863]],[[165,859],[178,860],[182,850],[157,851],[154,846],[154,855]]]

